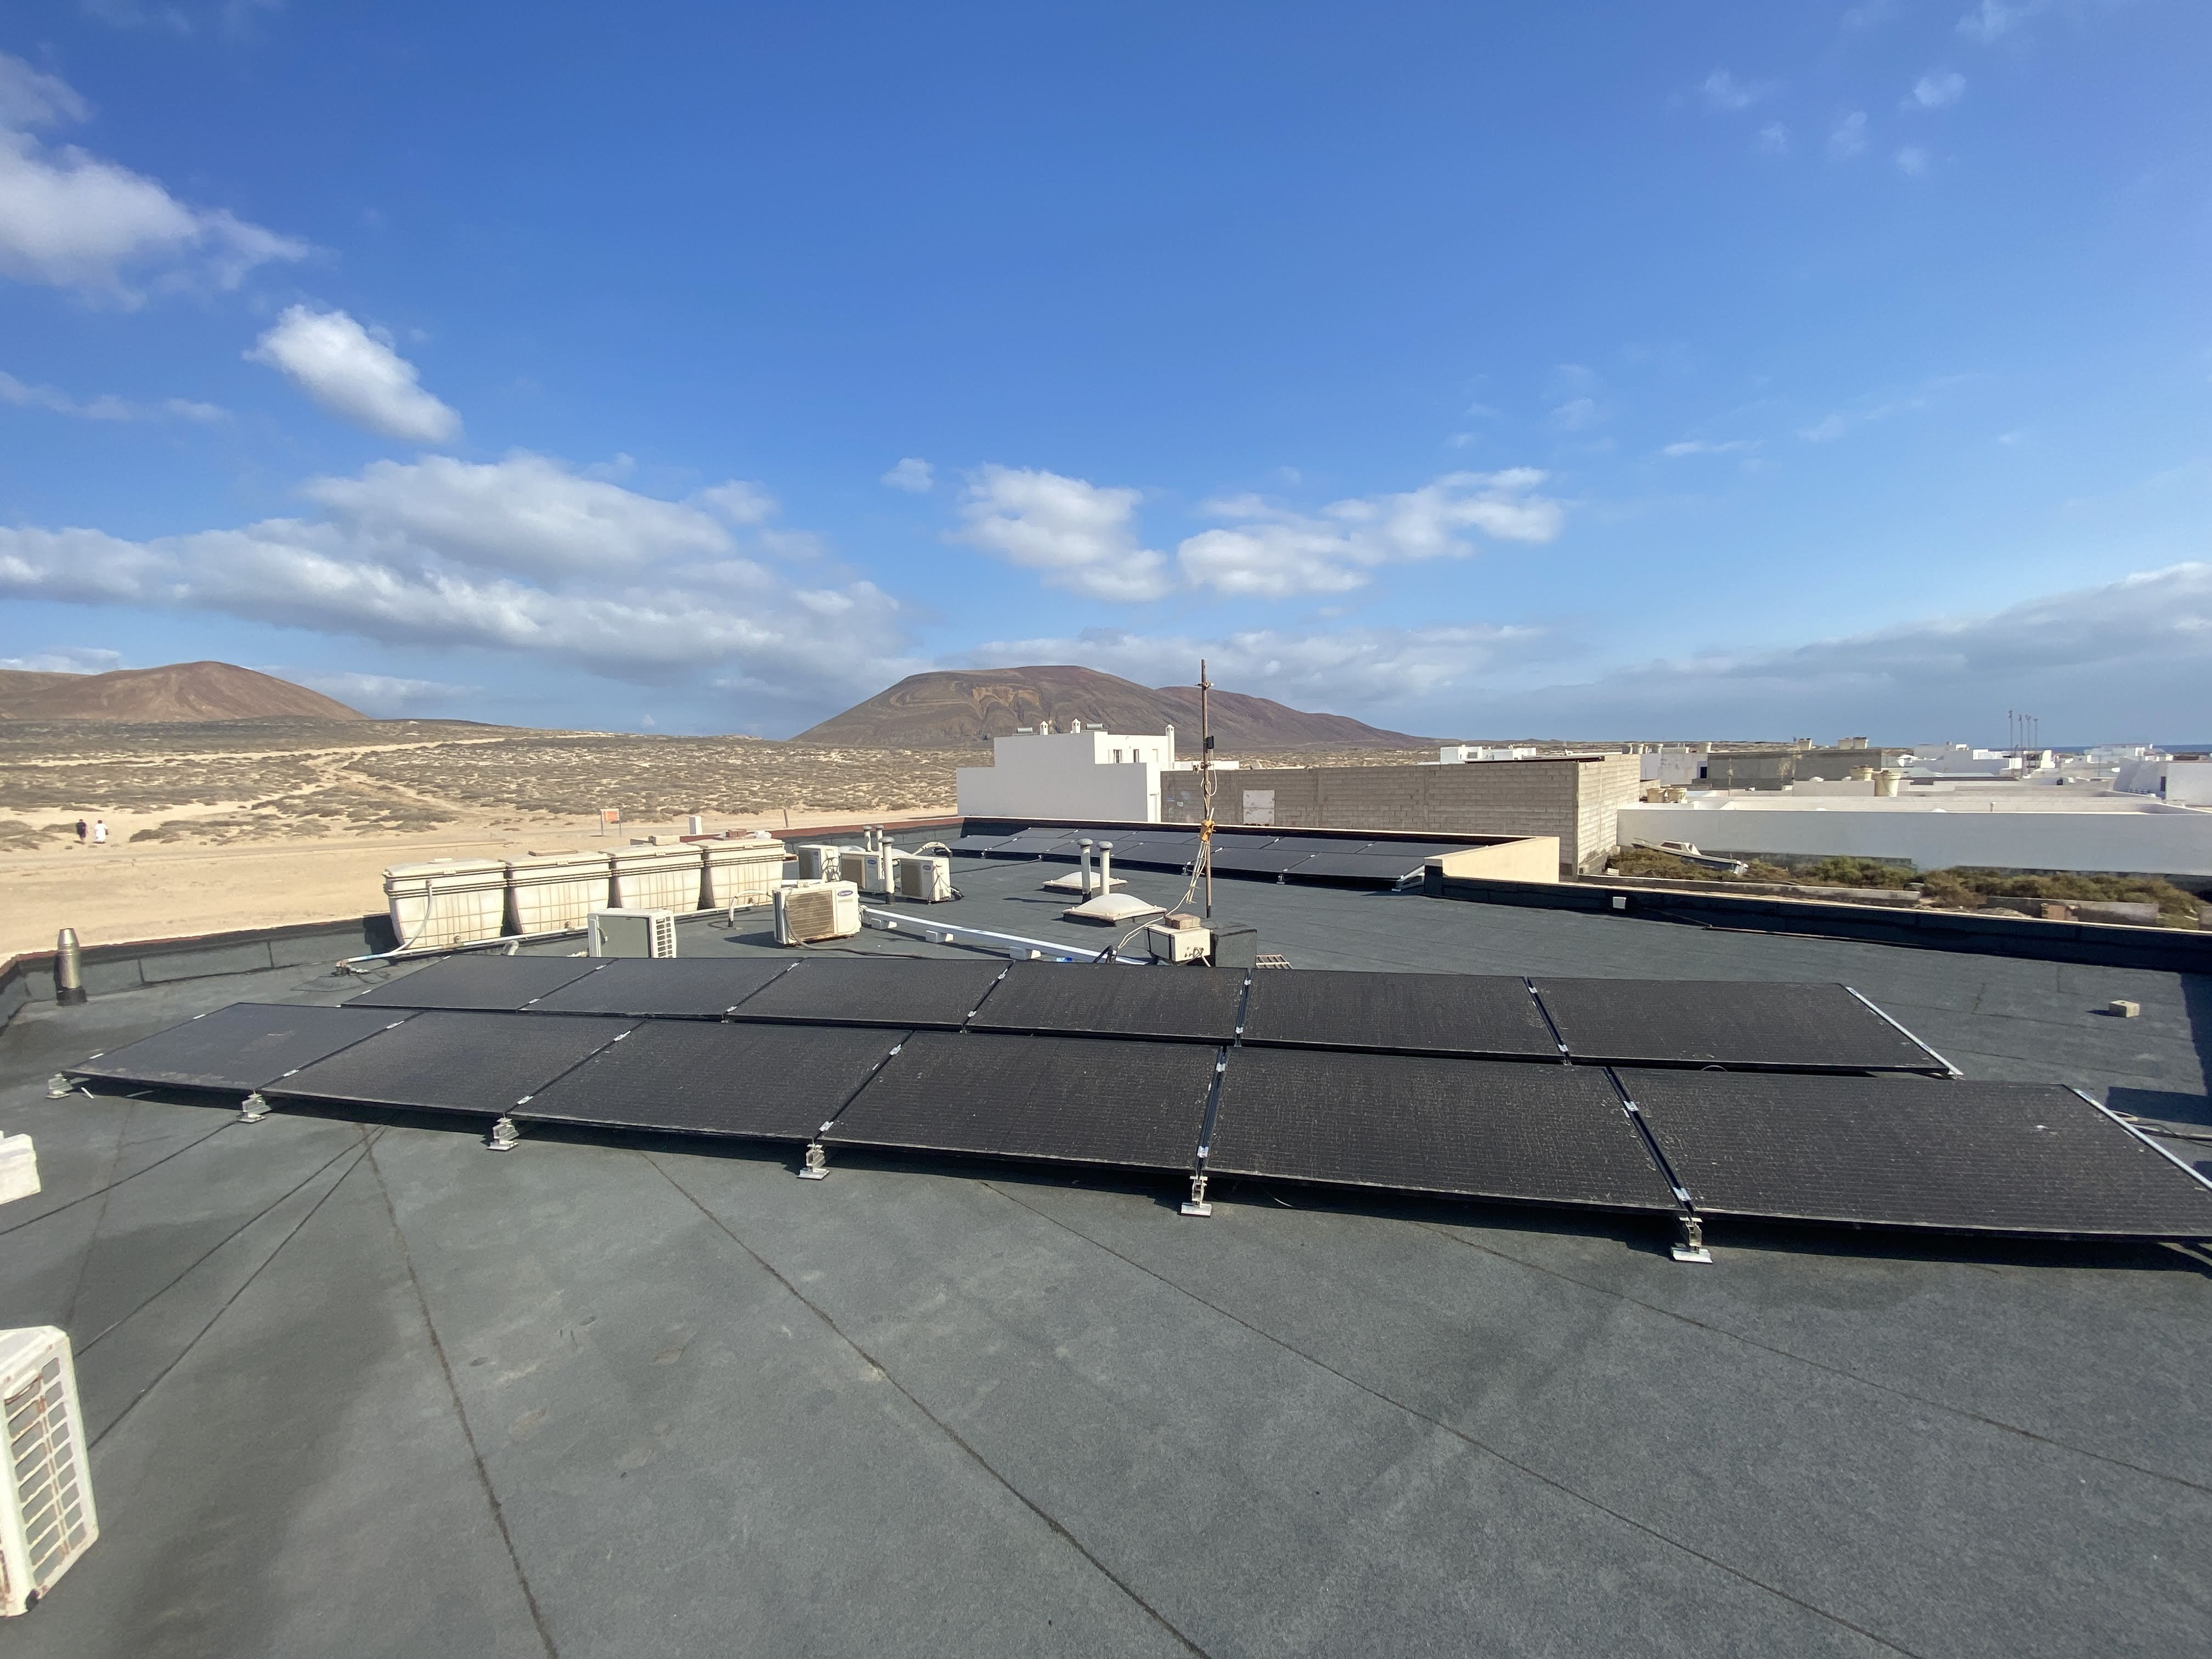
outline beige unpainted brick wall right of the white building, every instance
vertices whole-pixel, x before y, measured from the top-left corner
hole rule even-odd
[[[1243,792],[1274,792],[1279,830],[1420,830],[1455,836],[1557,836],[1559,869],[1599,869],[1637,799],[1635,754],[1595,761],[1254,768],[1214,774],[1214,823],[1243,823]],[[1199,774],[1159,781],[1168,823],[1199,821]]]

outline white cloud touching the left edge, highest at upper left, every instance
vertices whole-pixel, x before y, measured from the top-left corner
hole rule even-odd
[[[307,246],[223,208],[192,208],[157,181],[33,128],[82,122],[86,102],[60,77],[0,53],[0,274],[135,305],[128,274],[164,285],[237,288]]]

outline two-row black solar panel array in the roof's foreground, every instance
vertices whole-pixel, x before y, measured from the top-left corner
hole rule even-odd
[[[1697,1068],[1936,1068],[1843,987],[1537,989],[1542,1004],[1524,980],[1436,973],[456,958],[383,987],[385,1006],[234,1004],[71,1075],[1610,1210],[1686,1197],[1703,1214],[2212,1237],[2212,1186],[2064,1088]]]

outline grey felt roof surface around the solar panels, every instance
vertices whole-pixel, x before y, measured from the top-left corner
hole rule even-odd
[[[962,858],[929,914],[1104,942],[1053,874]],[[1969,1077],[2212,1124],[2203,980],[1274,883],[1217,914],[1298,967],[1840,980]],[[46,1181],[0,1208],[0,1325],[75,1338],[102,1515],[11,1655],[2212,1646],[2197,1248],[1717,1223],[1686,1267],[1637,1219],[1221,1181],[1192,1221],[1099,1172],[44,1097],[358,989],[0,1033]]]

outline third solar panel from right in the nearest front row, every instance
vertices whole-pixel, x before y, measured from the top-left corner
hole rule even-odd
[[[1188,1170],[1217,1053],[1164,1042],[922,1033],[823,1141]]]

